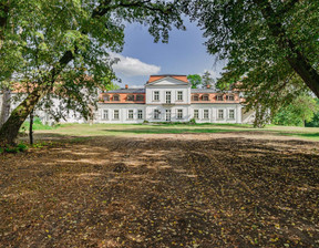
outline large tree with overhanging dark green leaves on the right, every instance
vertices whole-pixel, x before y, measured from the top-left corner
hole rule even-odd
[[[248,110],[263,104],[275,113],[307,89],[319,96],[319,1],[182,0],[179,4],[205,30],[208,52],[227,61],[218,85],[240,81]]]

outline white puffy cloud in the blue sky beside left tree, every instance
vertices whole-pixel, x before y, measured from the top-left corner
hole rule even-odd
[[[119,59],[119,62],[113,65],[114,71],[125,76],[152,75],[161,71],[161,66],[146,64],[138,59],[123,56],[113,52],[111,52],[110,55],[113,59]]]

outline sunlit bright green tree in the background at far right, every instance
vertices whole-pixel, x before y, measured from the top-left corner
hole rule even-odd
[[[299,95],[289,105],[279,110],[274,118],[277,125],[306,126],[319,111],[317,101],[310,95]]]

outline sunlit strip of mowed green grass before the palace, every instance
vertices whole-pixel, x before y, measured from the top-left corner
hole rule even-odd
[[[63,124],[53,130],[41,130],[37,133],[51,133],[68,136],[104,136],[104,135],[140,135],[140,134],[212,134],[245,133],[294,136],[302,140],[319,141],[319,127],[292,127],[268,125],[254,128],[248,124]]]

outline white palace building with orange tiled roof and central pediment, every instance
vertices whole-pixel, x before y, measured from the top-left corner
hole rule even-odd
[[[95,122],[251,123],[243,100],[236,91],[192,89],[186,75],[151,75],[143,89],[101,93]]]

